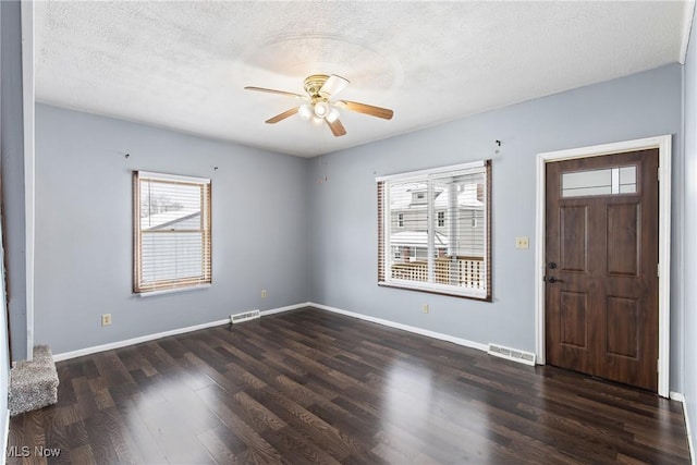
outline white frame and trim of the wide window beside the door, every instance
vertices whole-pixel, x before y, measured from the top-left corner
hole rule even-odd
[[[477,160],[477,161],[473,161],[473,162],[467,162],[467,163],[460,163],[460,164],[453,164],[453,166],[449,166],[449,167],[439,167],[439,168],[433,168],[433,169],[428,169],[428,170],[419,170],[419,171],[409,171],[406,173],[396,173],[396,174],[390,174],[390,175],[383,175],[383,176],[377,176],[376,183],[380,183],[380,182],[388,182],[388,183],[392,183],[392,182],[409,182],[409,181],[424,181],[424,180],[431,180],[431,179],[438,179],[438,178],[443,178],[443,176],[456,176],[456,175],[461,175],[461,174],[469,174],[472,173],[472,171],[474,169],[477,168],[484,168],[487,166],[487,161],[488,160]],[[490,182],[490,180],[487,180],[487,182]],[[490,186],[487,186],[487,191],[490,192]],[[432,203],[432,185],[429,185],[428,191],[427,191],[427,206],[428,206],[428,217],[429,218],[433,218],[433,203]],[[488,196],[488,194],[487,194]],[[490,199],[487,198],[487,205],[490,204]],[[390,201],[390,193],[389,191],[386,188],[386,191],[383,192],[383,201],[386,204],[389,204]],[[490,215],[490,211],[487,212],[488,215]],[[382,208],[382,231],[384,232],[384,234],[389,234],[389,232],[391,231],[391,215],[390,215],[390,209],[389,208]],[[486,222],[488,223],[488,221]],[[435,261],[435,246],[433,246],[433,234],[435,234],[435,230],[436,228],[429,228],[428,230],[428,253],[427,253],[427,257],[428,257],[428,269],[429,269],[429,274],[432,274],[433,272],[433,261]],[[484,234],[485,237],[488,238],[489,241],[492,240],[489,228],[487,227],[487,224],[485,224],[484,228]],[[482,301],[482,302],[488,302],[492,299],[492,294],[491,294],[491,290],[489,289],[485,289],[482,291],[479,290],[470,290],[470,289],[461,289],[457,286],[452,286],[452,285],[447,285],[447,284],[438,284],[438,283],[432,283],[432,282],[419,282],[419,281],[411,281],[411,280],[401,280],[401,279],[395,279],[395,278],[390,278],[387,269],[390,267],[391,262],[393,261],[393,257],[392,257],[392,253],[391,253],[391,246],[390,244],[384,241],[383,238],[383,243],[384,243],[384,248],[382,250],[382,260],[384,264],[384,268],[386,268],[386,274],[384,274],[384,281],[381,281],[379,283],[379,285],[386,285],[386,286],[390,286],[390,287],[399,287],[399,289],[405,289],[405,290],[412,290],[412,291],[423,291],[423,292],[432,292],[432,293],[437,293],[437,294],[443,294],[443,295],[452,295],[452,296],[462,296],[462,297],[470,297],[470,298],[475,298],[478,301]],[[490,248],[491,244],[486,244],[485,250],[487,248]],[[487,271],[487,273],[491,273],[491,262],[490,262],[490,258],[489,258],[489,254],[485,253],[485,257],[482,260],[485,270]],[[431,279],[432,276],[429,276],[429,279]],[[487,277],[487,284],[490,286],[492,283],[492,279],[490,276]],[[487,298],[489,297],[489,298]]]

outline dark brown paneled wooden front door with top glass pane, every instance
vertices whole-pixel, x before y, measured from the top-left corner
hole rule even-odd
[[[547,163],[547,363],[658,390],[658,149]]]

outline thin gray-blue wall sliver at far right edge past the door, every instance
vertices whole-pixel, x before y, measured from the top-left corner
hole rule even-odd
[[[685,356],[684,393],[692,421],[693,444],[697,445],[697,23],[693,29],[684,69],[685,100]]]

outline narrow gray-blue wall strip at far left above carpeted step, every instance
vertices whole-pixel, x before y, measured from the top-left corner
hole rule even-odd
[[[24,130],[22,113],[22,20],[19,1],[0,1],[2,11],[2,207],[7,230],[12,359],[26,358],[26,255],[24,222]]]

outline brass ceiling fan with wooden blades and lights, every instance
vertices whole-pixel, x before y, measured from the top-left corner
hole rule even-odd
[[[246,86],[246,90],[258,90],[262,93],[280,94],[289,97],[305,100],[304,103],[293,107],[273,118],[266,120],[268,124],[276,124],[289,117],[297,113],[303,120],[310,120],[321,123],[322,120],[329,125],[334,136],[340,137],[346,134],[344,125],[339,121],[338,108],[369,114],[370,117],[391,120],[394,112],[388,108],[374,107],[372,105],[360,103],[348,100],[330,100],[341,90],[346,88],[348,79],[335,74],[313,74],[305,78],[305,91],[307,96],[284,90],[268,89],[266,87]]]

